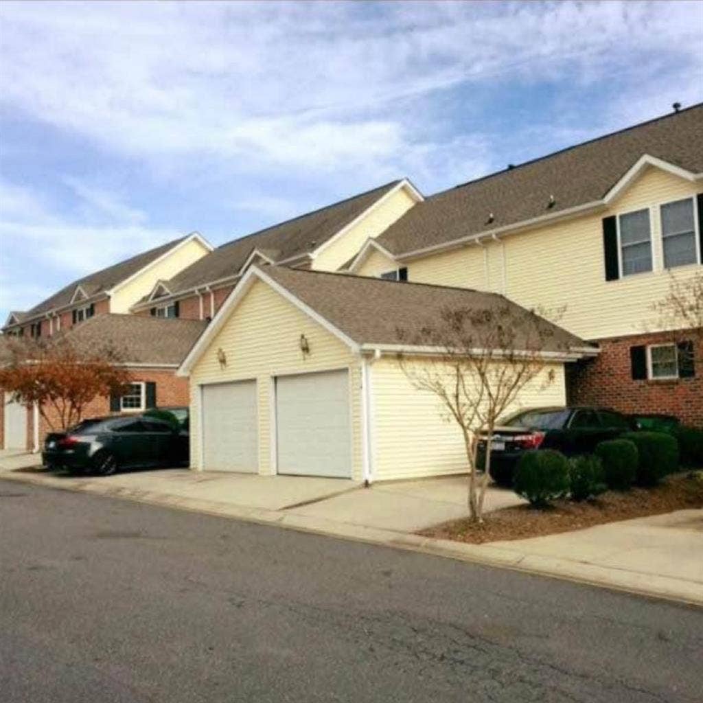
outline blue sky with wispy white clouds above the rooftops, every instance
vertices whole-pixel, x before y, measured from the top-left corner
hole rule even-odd
[[[0,318],[182,233],[703,100],[703,4],[0,4]]]

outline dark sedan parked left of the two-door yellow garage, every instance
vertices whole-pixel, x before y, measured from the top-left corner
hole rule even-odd
[[[188,465],[188,432],[146,415],[83,420],[46,437],[44,466],[109,476],[121,469]]]

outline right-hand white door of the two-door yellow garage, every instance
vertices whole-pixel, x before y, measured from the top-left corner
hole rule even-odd
[[[276,379],[278,473],[352,477],[349,372]]]

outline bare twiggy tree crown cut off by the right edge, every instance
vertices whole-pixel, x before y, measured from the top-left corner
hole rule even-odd
[[[669,292],[652,309],[659,327],[673,330],[679,354],[689,363],[703,363],[703,273],[677,278],[669,271]]]

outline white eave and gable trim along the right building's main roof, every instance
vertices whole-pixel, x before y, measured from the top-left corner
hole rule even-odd
[[[527,220],[522,220],[520,222],[514,222],[512,224],[504,225],[502,227],[496,227],[494,229],[486,229],[483,232],[476,234],[470,234],[465,237],[459,237],[453,239],[449,242],[443,242],[441,244],[435,244],[430,247],[423,247],[421,249],[414,249],[409,252],[402,252],[395,255],[395,258],[399,261],[406,261],[407,259],[415,259],[417,257],[423,257],[426,254],[432,252],[441,252],[449,249],[454,249],[456,247],[463,246],[472,242],[477,242],[484,238],[498,236],[500,234],[512,234],[520,232],[524,229],[533,228],[541,224],[550,223],[554,221],[559,221],[561,219],[567,219],[573,217],[574,215],[586,214],[591,211],[598,211],[602,209],[617,198],[617,196],[631,185],[631,183],[637,179],[640,172],[647,166],[653,166],[655,168],[663,169],[664,171],[673,174],[674,176],[680,176],[687,181],[700,181],[703,179],[703,173],[695,174],[686,169],[682,169],[674,164],[670,164],[667,161],[658,159],[657,157],[645,154],[643,157],[638,159],[635,165],[628,169],[628,172],[615,183],[610,191],[600,200],[592,200],[591,202],[584,202],[582,205],[574,205],[574,207],[569,207],[565,210],[559,210],[557,212],[550,212],[548,214],[540,215],[538,217],[531,217]]]

